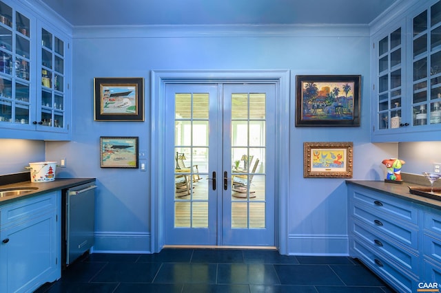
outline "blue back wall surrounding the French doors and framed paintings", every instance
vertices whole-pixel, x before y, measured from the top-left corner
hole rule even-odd
[[[381,180],[381,160],[397,155],[396,144],[369,142],[367,27],[87,28],[74,31],[73,54],[72,142],[47,142],[46,159],[67,158],[64,177],[98,179],[95,250],[150,250],[150,196],[161,195],[150,195],[149,171],[100,169],[99,136],[139,136],[150,153],[152,69],[291,70],[290,193],[281,232],[288,253],[347,254],[344,180],[303,178],[303,142],[354,142],[355,179]],[[296,74],[361,74],[361,127],[294,127]],[[145,122],[93,120],[93,78],[107,76],[145,78]]]

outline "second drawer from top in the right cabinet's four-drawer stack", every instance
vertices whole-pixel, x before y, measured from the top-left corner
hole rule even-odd
[[[353,217],[367,224],[374,231],[383,232],[392,239],[409,248],[418,250],[418,229],[405,226],[400,222],[386,219],[382,215],[375,215],[368,209],[353,206]]]

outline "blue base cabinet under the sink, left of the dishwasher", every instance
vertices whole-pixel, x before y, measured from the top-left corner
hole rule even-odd
[[[61,191],[0,206],[0,292],[61,277]]]

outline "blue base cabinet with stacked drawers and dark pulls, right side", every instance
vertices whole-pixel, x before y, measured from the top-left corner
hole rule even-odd
[[[398,292],[441,284],[441,208],[348,184],[349,255]]]

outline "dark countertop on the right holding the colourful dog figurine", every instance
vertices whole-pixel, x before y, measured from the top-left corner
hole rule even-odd
[[[431,199],[429,197],[423,197],[420,195],[414,195],[409,192],[409,186],[422,186],[413,183],[403,182],[403,184],[386,183],[384,181],[369,181],[369,180],[346,180],[347,184],[356,184],[358,186],[372,189],[373,191],[379,191],[395,197],[401,197],[417,204],[423,204],[425,206],[431,206],[432,208],[441,209],[441,197],[440,200]]]

